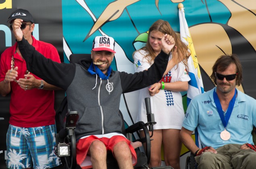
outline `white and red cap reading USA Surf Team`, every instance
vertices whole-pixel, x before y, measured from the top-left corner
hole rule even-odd
[[[108,36],[98,36],[94,38],[92,43],[92,51],[114,51],[114,39]]]

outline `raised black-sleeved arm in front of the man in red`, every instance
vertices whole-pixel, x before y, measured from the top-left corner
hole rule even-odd
[[[54,62],[36,51],[35,48],[23,38],[23,33],[20,29],[22,21],[21,19],[15,19],[12,24],[12,29],[18,42],[19,51],[27,63],[27,69],[31,73],[44,79],[47,83],[67,90],[74,77],[75,64]]]

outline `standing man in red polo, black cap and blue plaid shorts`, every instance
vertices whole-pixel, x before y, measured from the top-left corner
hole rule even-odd
[[[17,9],[7,22],[10,30],[15,19],[22,19],[23,37],[46,58],[60,63],[57,49],[32,36],[34,20],[29,11]],[[17,43],[0,58],[0,94],[10,93],[10,120],[6,134],[7,159],[10,169],[53,168],[59,159],[53,153],[55,143],[54,91],[59,90],[27,70]],[[18,157],[20,155],[20,158]],[[32,164],[33,163],[33,164]]]

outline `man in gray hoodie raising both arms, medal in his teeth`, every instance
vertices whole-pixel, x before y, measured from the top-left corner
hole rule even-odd
[[[83,169],[106,169],[106,151],[110,150],[119,168],[132,169],[137,157],[130,141],[121,134],[121,94],[145,88],[162,78],[175,45],[173,37],[162,36],[162,51],[148,71],[131,74],[112,70],[112,37],[95,37],[91,59],[81,59],[78,64],[56,63],[35,51],[23,38],[21,22],[16,19],[12,27],[27,69],[65,90],[68,108],[79,113],[75,128],[77,163]]]

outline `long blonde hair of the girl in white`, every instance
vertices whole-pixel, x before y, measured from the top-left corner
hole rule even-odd
[[[160,31],[164,35],[169,34],[174,38],[175,46],[177,47],[177,53],[174,52],[175,48],[173,47],[173,49],[171,50],[172,55],[178,55],[179,57],[181,57],[183,64],[185,65],[187,71],[189,71],[188,66],[187,66],[187,59],[190,56],[188,47],[181,41],[181,39],[173,31],[169,22],[162,20],[162,19],[157,20],[150,26],[149,31],[148,31],[147,43],[146,43],[145,47],[142,47],[141,49],[139,49],[139,50],[144,50],[144,51],[148,52],[148,54],[145,55],[144,58],[147,59],[150,64],[152,64],[152,62],[156,58],[156,53],[149,43],[150,33],[152,31]],[[139,51],[139,50],[137,50],[137,51]],[[134,55],[134,53],[133,53],[133,55]],[[175,64],[177,65],[178,63],[175,63]]]

